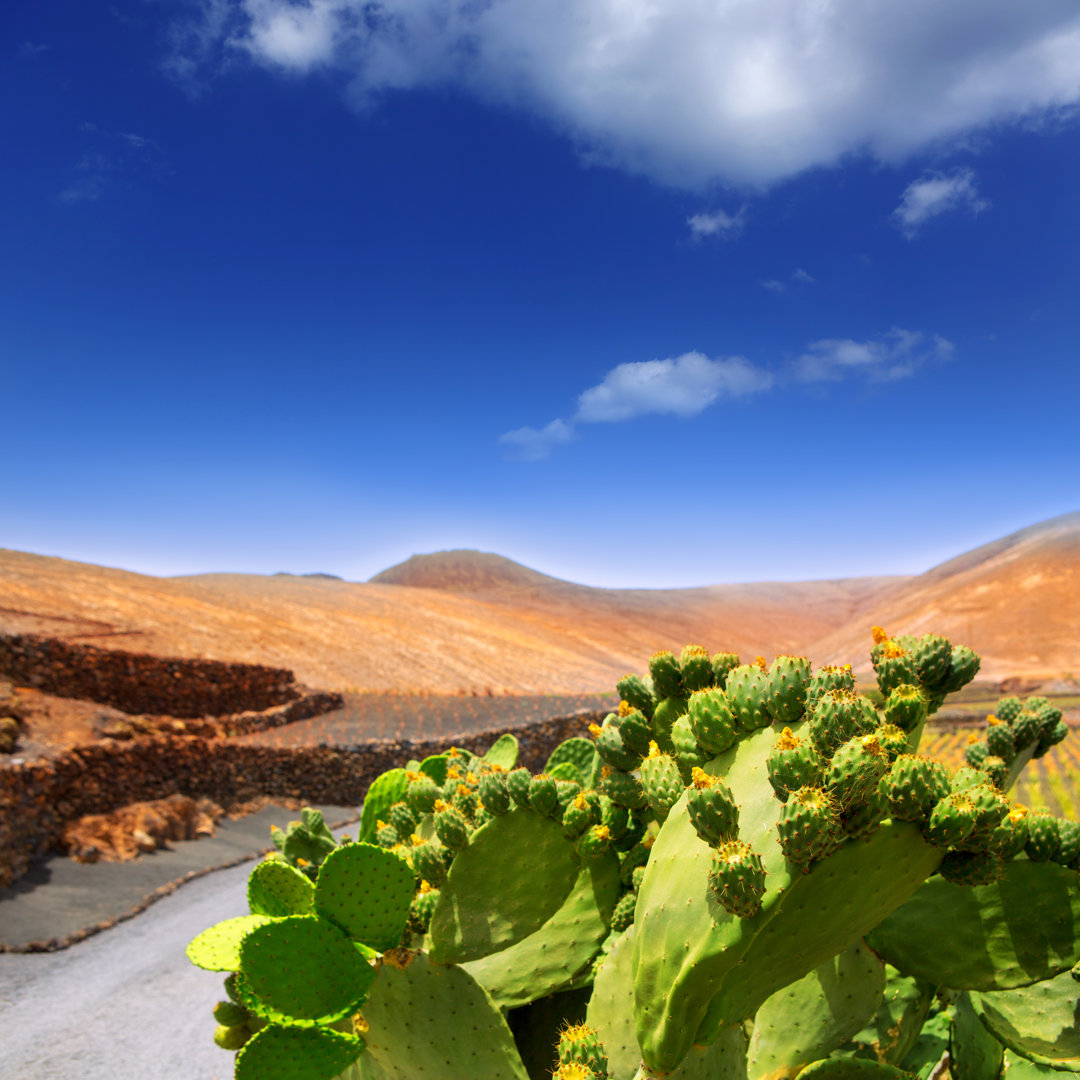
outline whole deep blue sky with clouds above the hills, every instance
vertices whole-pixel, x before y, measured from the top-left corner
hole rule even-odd
[[[0,28],[2,546],[674,586],[1080,508],[1074,0]]]

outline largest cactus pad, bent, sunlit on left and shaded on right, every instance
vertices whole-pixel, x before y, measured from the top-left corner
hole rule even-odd
[[[799,725],[801,728],[804,725]],[[795,729],[793,728],[793,731]],[[739,806],[739,839],[760,855],[758,914],[728,914],[708,889],[713,849],[698,837],[686,796],[652,847],[638,892],[634,940],[638,1041],[645,1062],[674,1069],[694,1042],[740,1023],[775,990],[812,971],[904,903],[937,867],[917,826],[886,822],[847,840],[802,874],[777,842],[782,804],[768,777],[775,741],[756,731],[707,765]]]

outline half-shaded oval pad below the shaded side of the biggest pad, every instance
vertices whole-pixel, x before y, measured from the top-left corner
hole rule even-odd
[[[748,1080],[793,1076],[842,1045],[885,997],[885,964],[860,941],[768,998],[754,1017]]]

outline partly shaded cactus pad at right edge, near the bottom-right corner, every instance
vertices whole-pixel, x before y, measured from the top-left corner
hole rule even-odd
[[[1080,987],[1066,971],[1031,986],[972,994],[980,1020],[1010,1050],[1042,1065],[1080,1070]]]

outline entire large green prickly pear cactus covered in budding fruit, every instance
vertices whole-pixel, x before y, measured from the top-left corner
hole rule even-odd
[[[868,696],[660,652],[535,774],[504,735],[379,778],[355,842],[306,811],[188,948],[238,1080],[1080,1070],[1080,825],[1007,795],[1059,710],[996,702],[949,770],[920,740],[978,658],[872,660]]]

